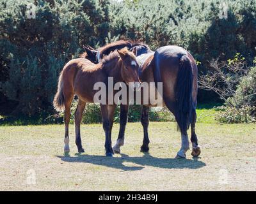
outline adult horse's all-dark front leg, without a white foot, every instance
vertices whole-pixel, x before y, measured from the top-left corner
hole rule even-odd
[[[140,147],[141,152],[148,152],[149,147],[148,144],[150,143],[148,138],[148,112],[149,107],[148,106],[141,106],[141,124],[143,126],[143,144]]]

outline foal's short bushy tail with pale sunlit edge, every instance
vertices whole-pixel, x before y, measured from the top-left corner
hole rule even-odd
[[[53,99],[54,109],[58,112],[64,110],[64,94],[63,94],[63,76],[62,71],[60,73],[59,82],[58,82],[58,91],[56,92]]]

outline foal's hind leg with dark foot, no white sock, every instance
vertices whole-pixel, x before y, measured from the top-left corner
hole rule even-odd
[[[79,153],[84,152],[84,149],[82,147],[82,141],[81,141],[80,124],[82,121],[85,105],[86,103],[84,101],[81,101],[81,99],[79,99],[77,108],[76,108],[76,113],[75,113],[76,145]]]

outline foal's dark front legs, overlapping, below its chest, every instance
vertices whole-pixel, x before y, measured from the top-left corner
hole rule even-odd
[[[102,114],[102,123],[103,129],[105,131],[105,149],[106,149],[106,156],[113,156],[114,151],[112,149],[112,142],[111,142],[111,131],[113,127],[113,116],[115,113],[116,105],[100,105],[100,110]]]

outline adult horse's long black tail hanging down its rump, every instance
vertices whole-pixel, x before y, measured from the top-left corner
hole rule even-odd
[[[187,55],[182,55],[182,57],[180,57],[179,72],[175,86],[175,117],[178,123],[178,129],[180,129],[182,133],[188,130],[191,123],[193,108],[192,89],[192,64]]]

